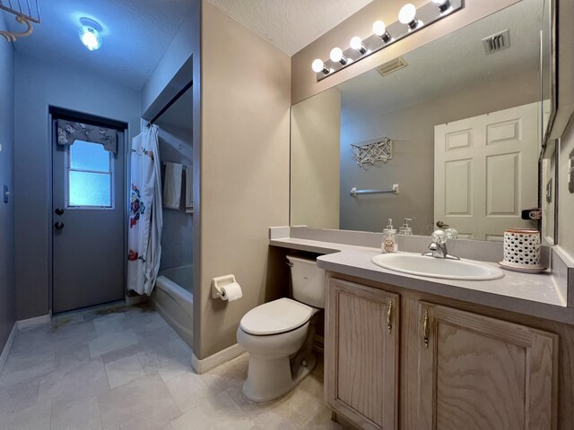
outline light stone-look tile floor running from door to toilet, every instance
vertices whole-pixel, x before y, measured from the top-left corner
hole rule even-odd
[[[145,306],[100,308],[17,333],[0,373],[3,430],[339,429],[323,366],[279,400],[241,396],[244,354],[205,374]]]

